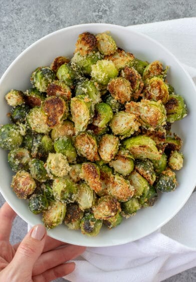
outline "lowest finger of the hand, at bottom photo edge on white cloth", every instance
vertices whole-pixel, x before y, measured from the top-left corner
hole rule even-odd
[[[75,269],[74,262],[61,264],[43,272],[42,274],[33,276],[33,281],[34,282],[53,281],[56,278],[70,274],[72,271],[74,271],[74,269]]]

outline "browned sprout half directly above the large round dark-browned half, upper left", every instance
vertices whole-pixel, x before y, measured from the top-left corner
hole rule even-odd
[[[63,81],[56,80],[49,84],[47,88],[48,96],[61,97],[65,101],[70,100],[72,97],[71,89]]]

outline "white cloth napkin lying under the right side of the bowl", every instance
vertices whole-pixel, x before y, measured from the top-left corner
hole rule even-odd
[[[156,39],[196,82],[196,18],[127,27]],[[195,67],[195,68],[194,68]],[[143,239],[114,247],[87,248],[75,260],[72,282],[159,282],[196,266],[196,192],[180,212]]]

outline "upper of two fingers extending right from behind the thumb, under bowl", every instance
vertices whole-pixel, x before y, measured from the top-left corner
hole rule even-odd
[[[33,275],[45,272],[47,269],[74,259],[85,251],[85,247],[67,245],[66,247],[42,254],[33,268]]]

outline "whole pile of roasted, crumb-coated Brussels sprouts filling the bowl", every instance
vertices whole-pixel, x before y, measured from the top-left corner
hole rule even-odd
[[[131,46],[130,46],[131,48]],[[141,61],[109,33],[79,35],[71,60],[54,59],[11,90],[12,123],[0,128],[16,174],[11,187],[45,226],[96,236],[176,188],[186,115],[160,61]]]

